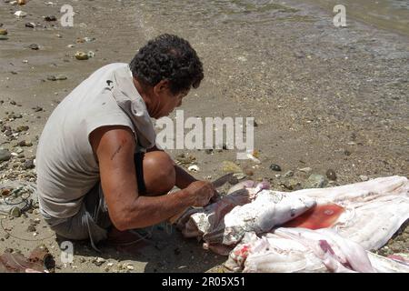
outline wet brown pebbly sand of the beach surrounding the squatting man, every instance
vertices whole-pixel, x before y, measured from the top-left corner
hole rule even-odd
[[[35,158],[36,136],[55,105],[95,69],[129,62],[141,45],[162,33],[185,37],[205,65],[204,83],[185,98],[185,118],[255,117],[254,147],[262,163],[240,165],[252,178],[265,178],[274,189],[289,190],[306,185],[308,175],[298,170],[304,167],[322,175],[334,169],[337,180],[333,186],[361,181],[360,176],[408,176],[409,39],[404,35],[354,20],[346,28],[336,28],[332,14],[295,1],[285,5],[244,1],[214,1],[214,5],[195,1],[54,3],[12,6],[0,2],[0,28],[8,31],[8,40],[0,40],[1,126],[11,126],[12,132],[20,125],[29,126],[13,140],[5,132],[0,135],[0,147],[10,152],[21,147],[24,154],[0,164],[2,183],[18,178],[35,181],[35,169],[25,169],[25,162]],[[43,20],[43,15],[58,17],[64,4],[75,8],[74,27]],[[17,19],[16,10],[28,15]],[[25,27],[28,22],[46,28]],[[76,43],[85,36],[95,41]],[[31,44],[39,49],[28,48]],[[80,50],[92,50],[95,57],[78,61],[74,55]],[[47,79],[61,74],[67,79]],[[36,106],[43,110],[33,109]],[[21,118],[13,116],[20,114]],[[22,140],[34,146],[14,146]],[[195,176],[201,179],[222,175],[222,161],[234,161],[236,153],[169,152],[174,157],[186,152],[194,155],[200,167]],[[272,171],[271,164],[281,166],[282,172]],[[284,177],[288,170],[294,171],[293,177]],[[35,217],[40,216],[34,213],[28,218],[2,220],[0,253],[11,247],[28,254],[45,244],[55,255],[57,272],[205,272],[224,262],[223,256],[204,251],[201,243],[155,226],[151,245],[130,255],[108,247],[100,255],[75,244],[75,261],[64,266],[58,263],[55,236],[43,222],[36,226],[37,236],[27,232],[28,219]],[[404,227],[381,253],[408,253],[408,246],[409,229]],[[95,266],[95,256],[107,261]],[[114,266],[107,266],[108,262]],[[133,264],[134,270],[124,263]]]

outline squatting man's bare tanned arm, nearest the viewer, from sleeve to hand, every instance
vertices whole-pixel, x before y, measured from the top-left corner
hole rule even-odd
[[[207,204],[205,184],[182,189],[173,195],[139,196],[134,164],[135,139],[125,126],[105,126],[90,135],[98,159],[109,216],[119,230],[152,226],[185,210]],[[205,182],[203,182],[205,183]]]

